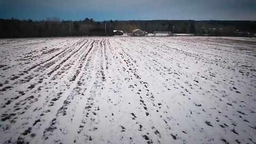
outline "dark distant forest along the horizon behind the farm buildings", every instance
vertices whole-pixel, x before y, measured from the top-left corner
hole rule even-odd
[[[105,33],[106,23],[106,33]],[[253,36],[256,21],[195,21],[195,20],[127,20],[94,21],[60,20],[51,18],[42,21],[0,19],[0,38],[12,37],[62,37],[62,36],[111,36],[113,30],[131,33],[140,28],[148,33],[173,31],[175,34],[198,36]],[[173,29],[174,28],[174,29]]]

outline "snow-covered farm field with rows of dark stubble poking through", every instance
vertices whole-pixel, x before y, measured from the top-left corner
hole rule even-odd
[[[0,39],[0,143],[255,143],[256,42]]]

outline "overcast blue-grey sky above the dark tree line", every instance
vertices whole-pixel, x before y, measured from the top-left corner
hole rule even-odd
[[[256,20],[256,0],[0,0],[0,18]]]

